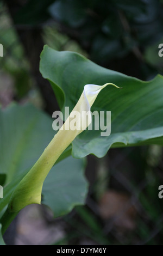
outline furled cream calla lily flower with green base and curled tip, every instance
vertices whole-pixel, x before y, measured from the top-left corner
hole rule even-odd
[[[91,106],[95,102],[99,92],[101,92],[101,90],[109,84],[115,86],[115,84],[112,83],[106,83],[103,86],[97,86],[95,84],[86,84],[84,86],[82,95],[80,96],[76,106],[73,108],[63,126],[54,136],[52,141],[48,144],[47,148],[43,151],[39,160],[37,160],[32,169],[29,170],[26,176],[24,176],[24,178],[15,188],[15,191],[12,193],[8,205],[9,212],[20,211],[29,204],[41,204],[42,186],[46,176],[53,167],[54,163],[58,160],[59,156],[68,147],[68,145],[72,143],[74,138],[76,138],[79,133],[81,133],[86,129],[87,126],[90,125]],[[79,120],[78,117],[76,123],[82,123],[82,126],[80,128],[78,127],[76,130],[71,130],[70,123],[73,119],[73,113],[76,111],[79,113],[86,111],[89,113],[89,116],[86,120]],[[82,114],[80,115],[80,119],[83,119]]]

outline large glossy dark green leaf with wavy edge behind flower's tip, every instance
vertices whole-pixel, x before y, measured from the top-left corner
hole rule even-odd
[[[92,107],[92,111],[111,111],[111,135],[84,131],[73,142],[74,157],[103,157],[110,147],[163,144],[162,76],[144,82],[102,68],[78,53],[58,52],[48,46],[41,53],[40,71],[51,83],[62,110],[64,106],[72,110],[85,84],[111,82],[123,88],[103,89]]]

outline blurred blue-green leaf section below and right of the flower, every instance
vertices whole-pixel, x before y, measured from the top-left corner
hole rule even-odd
[[[57,163],[43,183],[42,203],[54,212],[54,217],[71,211],[85,202],[87,182],[83,176],[84,160],[72,156]]]

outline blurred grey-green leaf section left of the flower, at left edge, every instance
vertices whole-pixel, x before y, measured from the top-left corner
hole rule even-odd
[[[32,105],[0,111],[0,174],[13,180],[33,166],[54,136],[52,120]]]

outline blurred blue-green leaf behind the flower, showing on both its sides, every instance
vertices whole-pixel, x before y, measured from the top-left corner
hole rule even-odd
[[[0,199],[0,218],[7,209],[15,187],[54,137],[52,122],[53,120],[47,114],[32,105],[20,106],[14,103],[0,110],[0,185],[4,187],[3,199]],[[85,199],[87,186],[83,176],[85,164],[83,160],[72,157],[63,160],[70,153],[71,148],[68,147],[68,150],[60,157],[62,161],[57,163],[53,167],[52,174],[47,176],[43,190],[43,203],[47,205],[49,203],[48,206],[54,209],[55,216],[68,212],[73,205],[84,203]],[[49,186],[49,181],[51,186]],[[49,194],[51,197],[48,199]],[[5,216],[7,217],[4,221],[8,218],[8,215]]]

